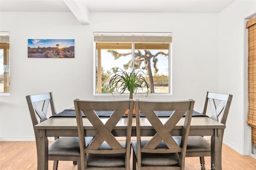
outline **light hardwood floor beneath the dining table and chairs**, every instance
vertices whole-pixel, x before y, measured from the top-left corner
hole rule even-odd
[[[210,157],[205,157],[210,169]],[[199,158],[186,158],[186,170],[199,170]],[[53,161],[49,161],[52,169]],[[36,142],[0,142],[0,170],[36,170]],[[76,170],[72,161],[60,161],[59,170]],[[223,170],[256,170],[256,160],[243,156],[226,145],[222,148]]]

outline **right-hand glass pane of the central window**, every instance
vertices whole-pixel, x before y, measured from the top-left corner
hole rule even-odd
[[[137,43],[134,61],[147,75],[152,93],[169,92],[169,44]]]

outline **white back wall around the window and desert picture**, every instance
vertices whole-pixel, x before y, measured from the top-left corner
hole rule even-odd
[[[114,100],[93,95],[93,32],[173,32],[173,95],[137,99],[194,99],[201,111],[205,92],[218,90],[218,14],[91,13],[81,25],[69,12],[1,12],[0,31],[10,31],[11,81],[10,96],[0,96],[0,140],[34,139],[26,95],[52,91],[58,112],[76,98]],[[28,39],[75,39],[75,58],[28,58]]]

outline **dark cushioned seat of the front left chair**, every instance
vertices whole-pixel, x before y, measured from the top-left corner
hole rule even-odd
[[[125,148],[125,142],[120,142]],[[103,142],[99,149],[111,149],[108,143]],[[125,153],[122,154],[87,154],[87,166],[92,167],[120,167],[125,166]]]

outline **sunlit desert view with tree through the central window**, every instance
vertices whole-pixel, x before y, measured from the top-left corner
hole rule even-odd
[[[134,57],[132,56],[132,48],[101,49],[102,93],[109,93],[110,89],[107,88],[109,75],[118,68],[126,71],[140,68],[147,76],[146,79],[152,93],[169,92],[169,50],[156,49],[154,43],[151,44],[153,49],[140,49],[142,45],[140,43],[137,48],[137,45],[134,45]]]

